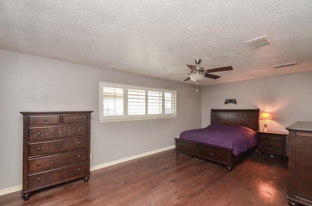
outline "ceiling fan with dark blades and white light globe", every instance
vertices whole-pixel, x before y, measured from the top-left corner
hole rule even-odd
[[[220,78],[220,76],[210,74],[212,72],[217,72],[217,71],[227,71],[227,70],[233,70],[231,66],[229,67],[220,67],[220,68],[215,68],[215,69],[204,69],[202,67],[198,67],[198,64],[201,62],[201,59],[195,59],[194,64],[195,65],[186,65],[188,68],[191,69],[189,73],[183,73],[183,74],[190,74],[188,78],[186,78],[183,82],[192,80],[193,82],[196,82],[196,91],[197,89],[197,84],[199,81],[201,81],[204,77],[212,78],[212,79],[217,79]],[[180,74],[168,74],[168,75],[180,75]]]

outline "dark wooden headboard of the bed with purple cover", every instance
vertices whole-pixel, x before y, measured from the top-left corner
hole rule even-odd
[[[244,126],[259,130],[259,109],[212,109],[211,124]]]

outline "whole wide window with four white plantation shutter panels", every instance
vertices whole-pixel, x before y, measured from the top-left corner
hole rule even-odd
[[[176,91],[100,82],[100,122],[176,117]]]

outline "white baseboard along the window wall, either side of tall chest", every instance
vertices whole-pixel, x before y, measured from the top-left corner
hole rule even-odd
[[[118,160],[115,160],[115,161],[112,161],[112,162],[107,162],[107,163],[104,163],[104,164],[101,164],[101,165],[97,165],[97,166],[91,167],[90,171],[95,171],[95,170],[98,170],[98,169],[106,168],[106,167],[109,167],[109,166],[112,166],[112,165],[116,165],[116,164],[119,164],[119,163],[122,163],[122,162],[130,161],[130,160],[137,159],[137,158],[140,158],[140,157],[143,157],[143,156],[148,156],[148,155],[151,155],[151,154],[164,152],[166,150],[171,150],[171,149],[174,149],[174,148],[176,148],[176,145],[173,145],[173,146],[170,146],[170,147],[161,148],[161,149],[154,150],[154,151],[147,152],[147,153],[137,154],[137,155],[134,155],[134,156],[118,159]],[[1,195],[5,195],[5,194],[9,194],[9,193],[12,193],[12,192],[20,191],[20,190],[22,190],[22,188],[23,188],[23,186],[19,185],[19,186],[14,186],[12,188],[1,189],[0,190],[0,196]]]

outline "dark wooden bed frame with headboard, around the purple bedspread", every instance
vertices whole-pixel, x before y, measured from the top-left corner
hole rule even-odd
[[[255,131],[259,130],[259,109],[212,109],[211,110],[211,125],[215,126],[215,130],[222,125],[228,126],[240,126],[246,127],[247,130],[252,131],[255,134]],[[210,127],[209,125],[208,127]],[[234,127],[233,127],[234,128]],[[205,128],[206,129],[206,128]],[[205,130],[204,128],[201,130]],[[199,132],[203,132],[199,130]],[[222,129],[223,130],[223,129]],[[196,132],[194,130],[190,130]],[[186,132],[186,131],[184,131]],[[182,132],[183,133],[183,132]],[[181,135],[182,135],[181,133]],[[219,164],[227,166],[229,172],[232,171],[233,165],[239,160],[245,158],[246,156],[252,154],[256,150],[256,139],[255,144],[248,149],[245,148],[245,151],[234,151],[233,149],[225,148],[224,145],[216,146],[212,144],[207,144],[202,142],[195,142],[188,138],[182,139],[175,138],[176,140],[176,154],[183,152],[186,154],[191,154],[193,156],[204,158]],[[184,135],[184,134],[183,134]],[[225,136],[225,135],[224,135]],[[233,137],[232,137],[233,138]],[[256,134],[255,134],[256,138]],[[198,140],[196,140],[198,141]]]

